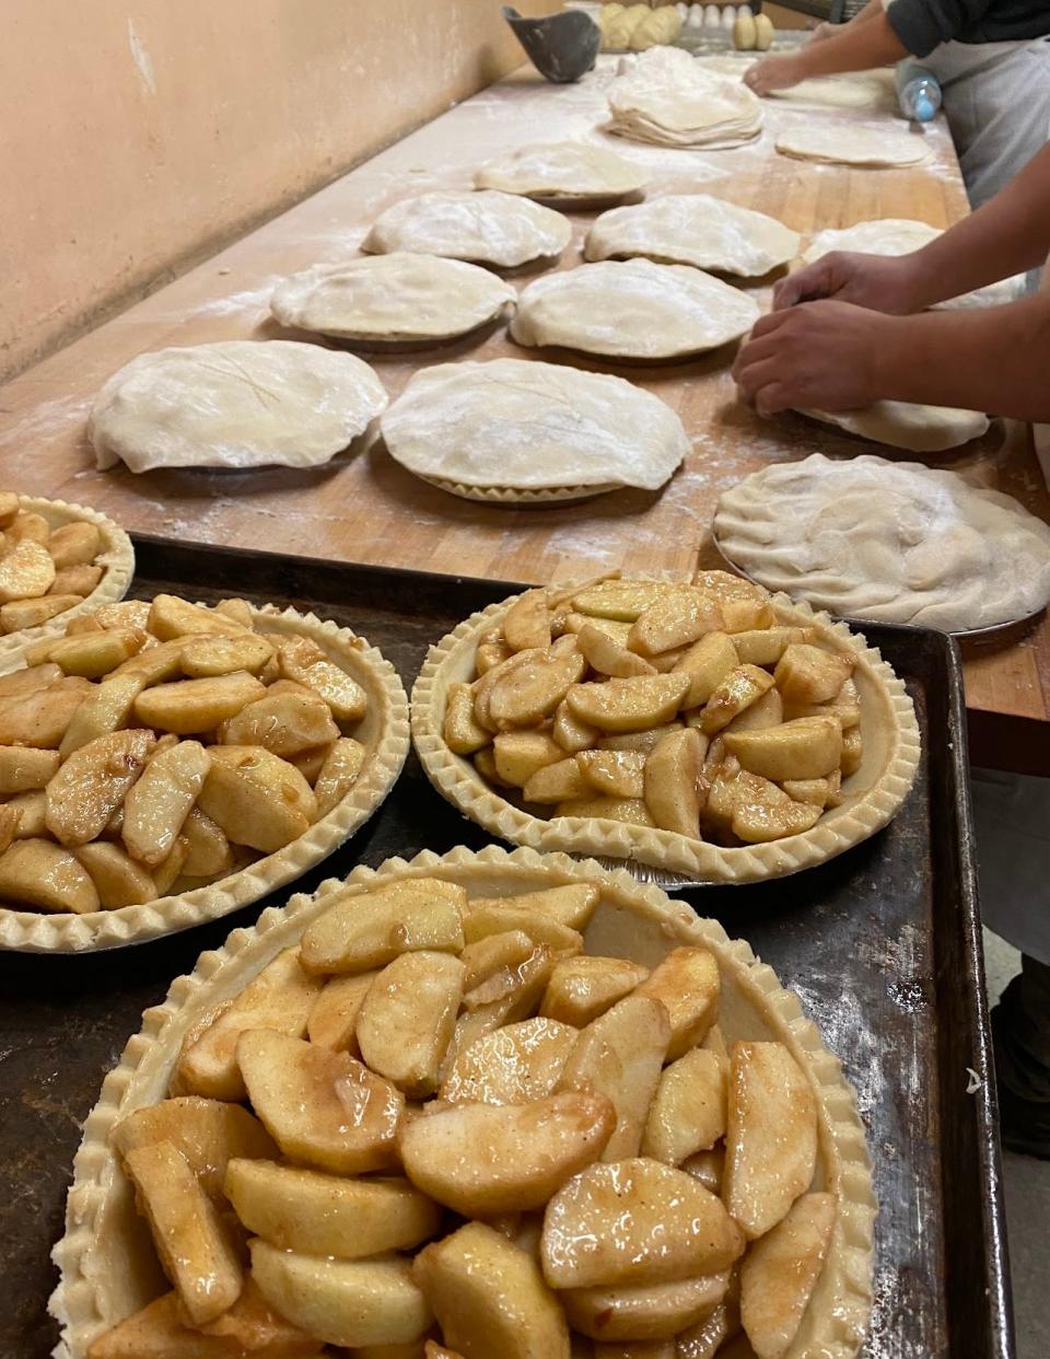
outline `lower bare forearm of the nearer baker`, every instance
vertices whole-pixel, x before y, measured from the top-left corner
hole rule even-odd
[[[888,318],[877,386],[891,401],[1050,423],[1050,295]]]

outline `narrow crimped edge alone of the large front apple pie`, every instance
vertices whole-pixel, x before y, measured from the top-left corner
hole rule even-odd
[[[734,984],[763,1012],[812,1083],[819,1109],[822,1165],[838,1203],[831,1246],[818,1280],[823,1301],[820,1316],[811,1314],[812,1306],[807,1309],[788,1359],[814,1354],[820,1354],[822,1359],[854,1359],[872,1310],[877,1203],[871,1158],[856,1094],[842,1075],[838,1057],[825,1046],[819,1029],[804,1015],[799,998],[781,985],[773,969],[757,958],[743,939],[731,939],[717,920],[697,916],[686,902],[668,898],[659,887],[642,886],[626,870],[607,870],[592,859],[539,855],[526,848],[508,851],[499,845],[488,845],[479,852],[460,845],[446,855],[424,849],[410,860],[387,859],[379,868],[359,864],[345,879],[326,879],[314,894],[296,893],[287,906],[269,906],[254,925],[234,930],[219,949],[202,953],[192,973],[171,983],[164,1002],[143,1014],[141,1030],[128,1041],[120,1063],[102,1083],[73,1159],[65,1234],[52,1250],[60,1282],[48,1310],[62,1328],[54,1359],[84,1359],[91,1341],[114,1324],[99,1316],[95,1286],[86,1268],[95,1222],[117,1169],[107,1137],[118,1118],[155,1102],[143,1099],[137,1084],[149,1079],[149,1072],[140,1076],[143,1064],[166,1042],[168,1026],[177,1023],[193,1002],[206,999],[208,989],[220,992],[216,1002],[243,989],[280,950],[299,940],[331,893],[344,887],[365,892],[380,882],[440,874],[443,867],[451,868],[459,882],[471,877],[490,881],[505,874],[508,886],[519,879],[518,890],[535,890],[538,874],[550,874],[557,882],[598,881],[613,905],[652,919],[674,943],[704,946],[714,953],[720,972],[731,974]],[[177,1030],[171,1036],[170,1065],[178,1055],[178,1040],[181,1033]]]

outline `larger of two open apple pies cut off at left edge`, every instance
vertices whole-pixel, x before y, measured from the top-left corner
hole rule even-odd
[[[243,599],[103,605],[0,675],[0,942],[130,943],[331,853],[405,760],[393,667]]]

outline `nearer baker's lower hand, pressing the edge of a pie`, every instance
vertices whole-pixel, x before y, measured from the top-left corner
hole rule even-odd
[[[759,414],[852,410],[886,395],[883,367],[894,352],[891,317],[844,302],[805,302],[762,317],[732,375]]]

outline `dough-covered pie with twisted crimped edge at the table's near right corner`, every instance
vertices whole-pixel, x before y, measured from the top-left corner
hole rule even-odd
[[[748,576],[835,614],[966,632],[1050,601],[1050,527],[914,462],[774,463],[723,493],[713,529]]]

